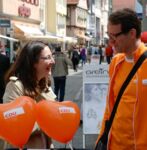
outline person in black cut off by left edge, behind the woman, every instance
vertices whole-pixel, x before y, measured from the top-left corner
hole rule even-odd
[[[10,67],[9,57],[0,52],[0,103],[3,103],[3,94],[5,92],[4,77],[9,67]]]

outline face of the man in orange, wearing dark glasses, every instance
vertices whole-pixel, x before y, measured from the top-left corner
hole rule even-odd
[[[121,24],[113,25],[108,23],[109,42],[114,47],[116,53],[126,53],[129,44],[129,35],[121,30]]]

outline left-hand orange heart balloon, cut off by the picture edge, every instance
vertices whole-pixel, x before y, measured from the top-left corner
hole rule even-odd
[[[28,141],[35,123],[35,101],[21,96],[0,104],[0,136],[22,148]]]

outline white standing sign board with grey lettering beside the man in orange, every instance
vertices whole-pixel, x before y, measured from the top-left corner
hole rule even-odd
[[[83,132],[98,134],[106,105],[108,65],[85,65],[83,68]]]

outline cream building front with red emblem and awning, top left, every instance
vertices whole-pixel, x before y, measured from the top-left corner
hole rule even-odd
[[[43,35],[40,30],[41,13],[39,0],[1,0],[0,20],[8,20],[9,27],[0,27],[0,33],[8,37],[19,39],[22,43],[29,39],[31,35]],[[13,43],[9,43],[10,53]],[[11,59],[13,54],[11,53]]]

